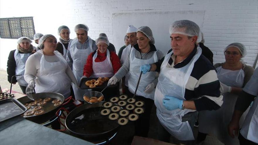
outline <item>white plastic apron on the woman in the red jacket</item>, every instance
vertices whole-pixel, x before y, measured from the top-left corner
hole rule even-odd
[[[93,59],[92,59],[92,69],[93,69],[93,74],[91,77],[93,78],[98,78],[98,77],[112,77],[114,75],[114,70],[112,63],[110,61],[110,53],[109,50],[107,49],[107,57],[103,62],[95,62],[95,59],[97,58],[98,55],[98,50],[94,54]]]

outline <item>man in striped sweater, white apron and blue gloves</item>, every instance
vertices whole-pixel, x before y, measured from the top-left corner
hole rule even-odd
[[[160,72],[154,101],[161,141],[169,142],[172,135],[193,144],[197,111],[217,110],[223,103],[215,68],[196,45],[199,31],[192,21],[175,21],[169,28],[172,50],[160,62],[140,67],[143,74]]]

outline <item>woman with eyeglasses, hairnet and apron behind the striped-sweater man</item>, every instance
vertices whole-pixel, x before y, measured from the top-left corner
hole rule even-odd
[[[227,91],[224,91],[226,93],[223,94],[223,104],[220,109],[199,112],[198,142],[204,140],[206,134],[214,134],[224,144],[239,144],[237,137],[232,139],[229,136],[227,127],[234,112],[237,93],[240,93],[254,72],[254,69],[246,65],[242,60],[246,53],[246,48],[243,44],[237,42],[231,43],[224,50],[226,61],[214,65],[217,70],[218,79],[224,86],[221,86],[221,88],[226,88]],[[240,119],[240,128],[248,110],[244,112]]]

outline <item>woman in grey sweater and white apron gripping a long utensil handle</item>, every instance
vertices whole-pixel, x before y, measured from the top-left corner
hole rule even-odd
[[[116,83],[129,72],[128,89],[130,97],[133,97],[135,88],[140,77],[140,66],[143,64],[152,64],[162,59],[163,54],[156,50],[155,40],[152,31],[147,26],[142,26],[137,30],[137,42],[131,49],[129,60],[125,61],[119,71],[109,80],[108,83]],[[135,135],[147,137],[150,126],[150,113],[154,104],[154,92],[157,84],[157,73],[147,72],[141,76],[140,83],[135,98],[145,102],[145,112],[139,120],[135,122]]]

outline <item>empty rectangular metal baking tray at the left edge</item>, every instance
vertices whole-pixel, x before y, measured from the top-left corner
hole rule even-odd
[[[0,101],[0,122],[22,115],[27,111],[21,102],[15,98],[8,98]]]

